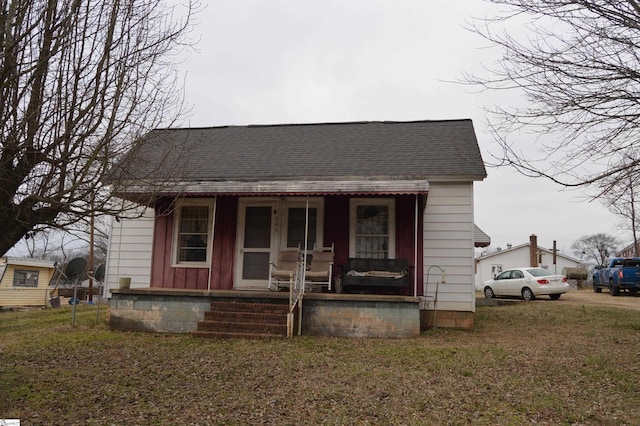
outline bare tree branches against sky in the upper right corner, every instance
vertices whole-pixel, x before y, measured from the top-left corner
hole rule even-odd
[[[464,80],[525,101],[493,111],[494,163],[574,187],[638,174],[638,157],[628,154],[640,123],[640,2],[488,1],[502,13],[475,19],[471,30],[502,59],[488,76]],[[537,152],[516,135],[524,131],[538,135]]]

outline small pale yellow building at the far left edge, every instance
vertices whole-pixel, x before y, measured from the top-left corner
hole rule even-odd
[[[54,272],[48,260],[0,258],[0,307],[46,306]]]

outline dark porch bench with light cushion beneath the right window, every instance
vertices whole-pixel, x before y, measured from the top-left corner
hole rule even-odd
[[[341,282],[336,293],[363,290],[404,292],[411,284],[411,266],[406,259],[350,258],[341,266]]]

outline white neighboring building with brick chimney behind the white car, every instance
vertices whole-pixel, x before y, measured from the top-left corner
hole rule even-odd
[[[483,282],[492,279],[500,272],[524,266],[540,266],[556,274],[565,274],[566,268],[578,268],[581,260],[575,257],[538,246],[535,235],[529,242],[504,250],[476,257],[476,289]]]

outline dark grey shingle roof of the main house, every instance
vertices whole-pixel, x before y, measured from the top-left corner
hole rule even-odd
[[[189,181],[486,177],[471,120],[158,129],[128,173]],[[162,164],[160,168],[158,164]]]

